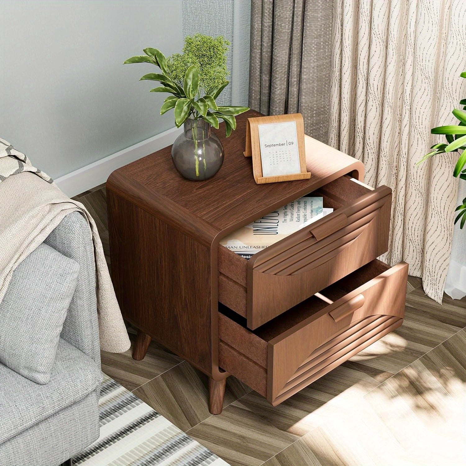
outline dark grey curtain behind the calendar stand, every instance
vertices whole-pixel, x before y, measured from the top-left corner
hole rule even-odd
[[[301,113],[306,134],[328,140],[332,2],[252,0],[249,106]]]

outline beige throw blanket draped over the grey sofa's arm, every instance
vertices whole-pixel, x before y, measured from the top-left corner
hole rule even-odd
[[[63,217],[75,211],[84,215],[92,232],[101,349],[113,353],[126,351],[130,340],[94,219],[80,202],[69,199],[24,154],[0,138],[0,301],[14,269]]]

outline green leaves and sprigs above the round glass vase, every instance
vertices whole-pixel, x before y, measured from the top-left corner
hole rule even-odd
[[[228,85],[226,52],[230,43],[222,36],[217,38],[195,34],[185,38],[182,54],[165,58],[156,48],[144,48],[145,55],[129,58],[124,63],[152,63],[161,73],[149,73],[141,80],[162,84],[150,92],[167,92],[160,115],[174,109],[175,124],[179,128],[187,118],[203,119],[214,128],[219,118],[226,126],[226,137],[236,129],[235,116],[249,110],[247,107],[218,106],[215,99]]]

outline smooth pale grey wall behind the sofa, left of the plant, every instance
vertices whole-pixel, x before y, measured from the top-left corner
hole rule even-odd
[[[174,126],[165,95],[123,65],[181,50],[181,0],[1,0],[0,137],[53,178]]]

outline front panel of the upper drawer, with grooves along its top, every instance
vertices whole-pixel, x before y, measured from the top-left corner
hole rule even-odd
[[[381,186],[253,257],[247,326],[256,329],[384,254],[390,210],[391,190]]]

